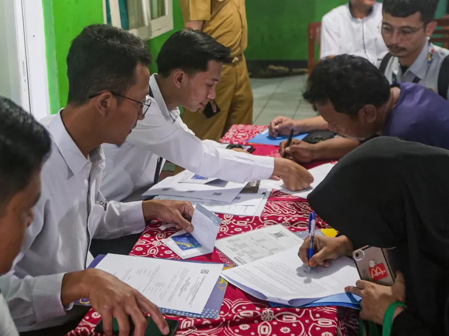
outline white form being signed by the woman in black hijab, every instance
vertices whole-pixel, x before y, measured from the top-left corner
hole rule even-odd
[[[283,305],[299,307],[326,296],[344,293],[360,279],[348,257],[330,267],[307,267],[298,257],[299,246],[222,272],[222,277],[246,293]]]

